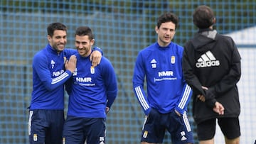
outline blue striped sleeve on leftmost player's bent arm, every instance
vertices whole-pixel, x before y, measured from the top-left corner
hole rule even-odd
[[[63,74],[60,74],[60,76],[52,78],[48,68],[47,57],[43,55],[35,55],[33,58],[33,68],[36,74],[38,74],[43,86],[49,91],[64,84],[72,75],[69,70],[66,70]]]

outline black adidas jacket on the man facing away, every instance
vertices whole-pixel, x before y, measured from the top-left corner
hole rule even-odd
[[[238,117],[237,83],[241,75],[240,54],[232,38],[215,30],[200,30],[184,46],[182,69],[193,89],[193,118],[196,123],[217,117]],[[208,87],[203,90],[201,87]],[[206,97],[206,102],[197,98]],[[213,111],[215,101],[223,104],[223,116]]]

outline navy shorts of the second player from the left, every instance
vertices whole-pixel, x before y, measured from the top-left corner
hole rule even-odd
[[[100,144],[105,143],[104,118],[80,118],[67,116],[63,128],[63,143]]]

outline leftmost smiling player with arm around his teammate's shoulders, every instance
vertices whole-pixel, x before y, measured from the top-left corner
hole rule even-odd
[[[64,83],[76,67],[76,50],[65,49],[67,27],[50,23],[48,45],[33,57],[33,91],[28,118],[29,142],[60,144],[64,123]],[[99,51],[97,51],[99,50]],[[93,63],[100,62],[102,51],[94,52]],[[69,60],[68,60],[69,58]]]

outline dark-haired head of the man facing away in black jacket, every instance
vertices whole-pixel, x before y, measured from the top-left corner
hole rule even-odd
[[[210,9],[209,6],[198,6],[195,11],[193,11],[193,23],[200,29],[213,26],[214,18],[213,10]]]

